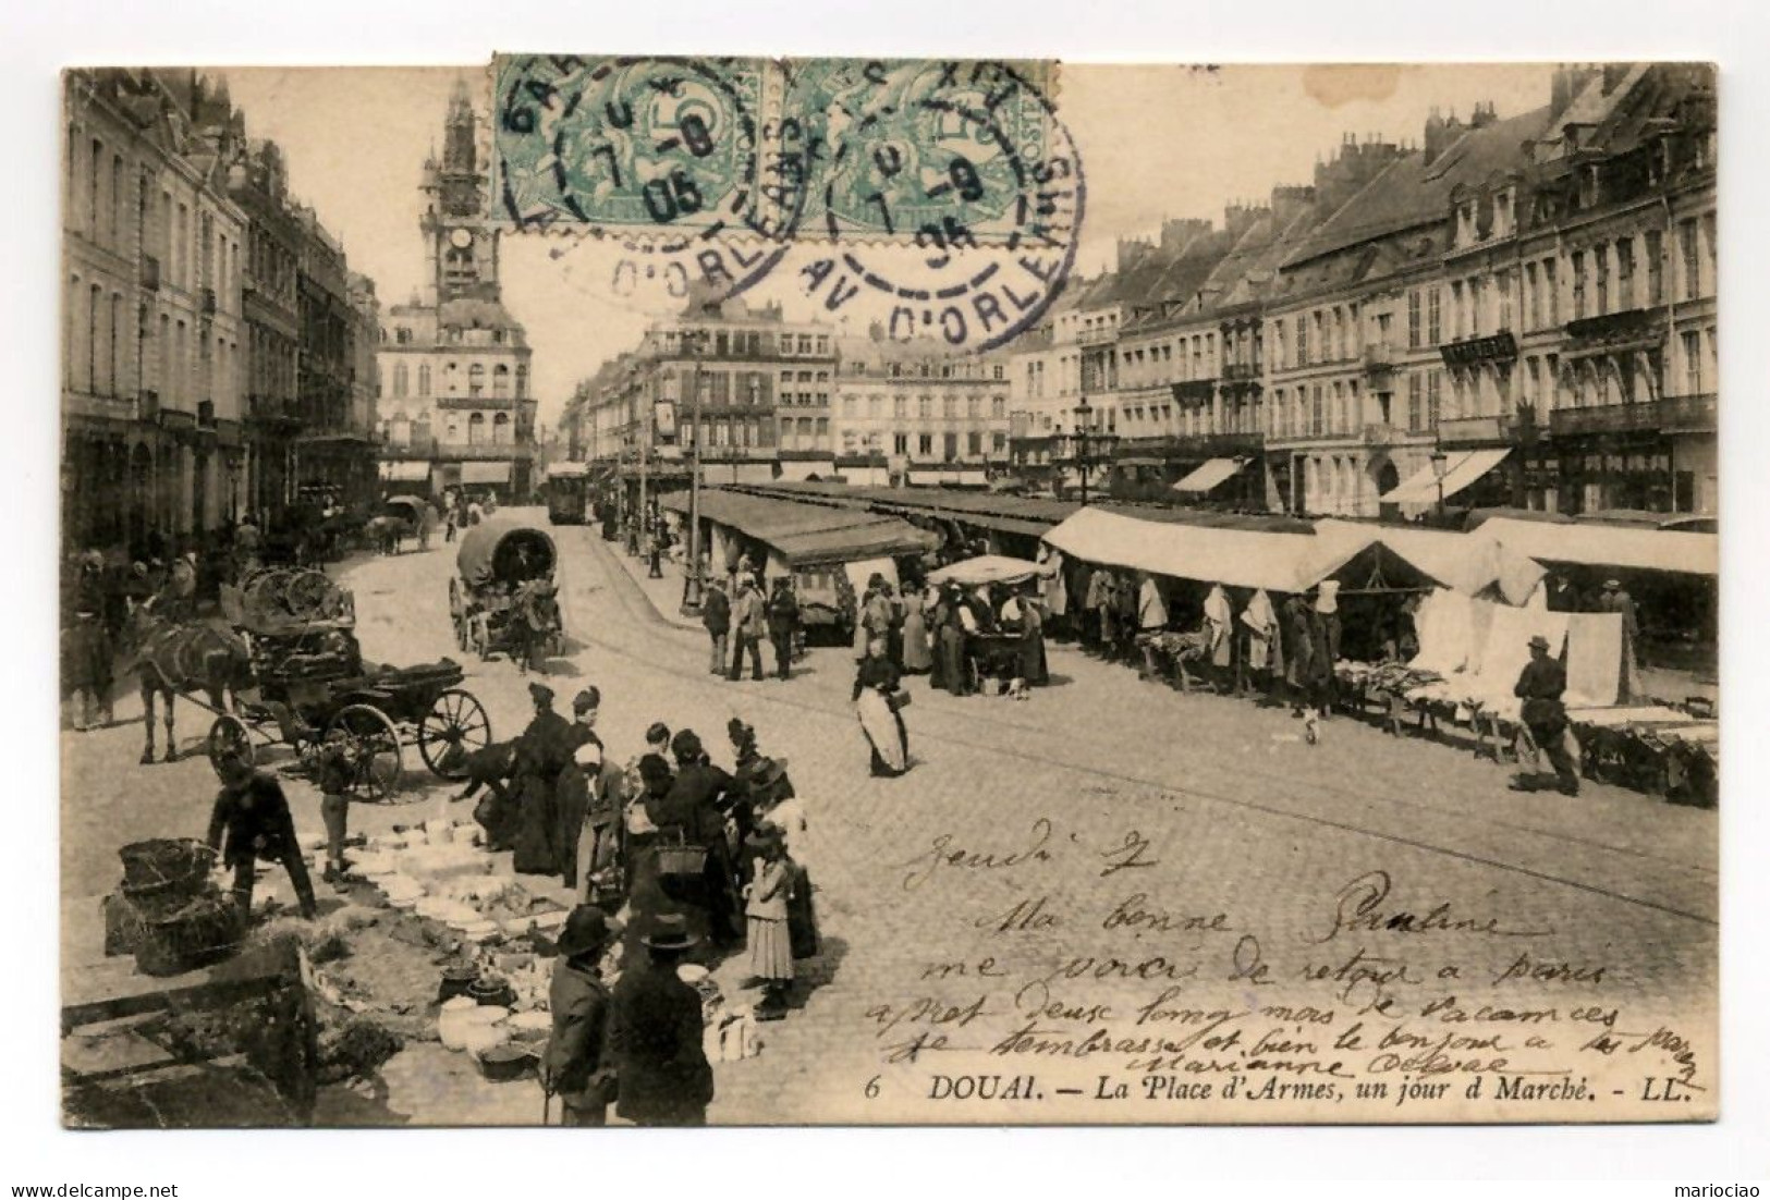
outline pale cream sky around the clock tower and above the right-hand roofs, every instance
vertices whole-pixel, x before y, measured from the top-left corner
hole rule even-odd
[[[1432,108],[1499,117],[1549,99],[1554,67],[1104,65],[1064,64],[1057,110],[1089,186],[1076,271],[1097,274],[1119,237],[1165,218],[1212,218],[1306,184],[1345,135],[1418,143]],[[253,138],[283,147],[292,193],[343,242],[384,306],[421,287],[418,191],[457,80],[483,94],[485,67],[239,67],[223,73]],[[609,248],[558,234],[503,239],[504,303],[527,326],[540,419],[552,425],[577,381],[632,347],[653,313],[607,287]],[[766,296],[775,299],[775,296]],[[793,312],[788,299],[789,315]]]

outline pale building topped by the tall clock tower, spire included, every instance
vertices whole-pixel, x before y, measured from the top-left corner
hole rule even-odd
[[[460,85],[444,120],[442,159],[425,163],[425,296],[391,306],[382,329],[382,478],[435,494],[467,487],[526,496],[535,483],[536,409],[529,345],[501,296],[476,131]]]

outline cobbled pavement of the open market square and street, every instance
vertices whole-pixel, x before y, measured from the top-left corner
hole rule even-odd
[[[529,517],[545,524],[543,513]],[[1630,1062],[1581,1046],[1577,1067],[1593,1080],[1630,1071],[1637,1088],[1641,1076],[1669,1073],[1671,1039],[1690,1042],[1692,1078],[1713,1078],[1715,812],[1595,784],[1577,800],[1513,793],[1512,768],[1351,719],[1324,722],[1310,745],[1281,708],[1182,696],[1067,646],[1051,648],[1051,687],[1025,703],[958,699],[912,680],[913,768],[873,779],[848,703],[846,646],[812,648],[788,681],[713,680],[704,634],[674,609],[680,577],[644,579],[643,565],[593,527],[552,533],[568,644],[545,674],[561,697],[584,683],[602,688],[598,733],[611,754],[625,761],[644,727],[664,720],[697,729],[729,765],[722,733],[742,715],[765,754],[788,758],[809,812],[802,858],[818,887],[825,954],[800,1007],[763,1027],[759,1057],[715,1067],[713,1122],[1235,1119],[1140,1090],[1124,1106],[1096,1099],[1096,1076],[1129,1073],[1140,1087],[1145,1073],[1133,1064],[1147,1055],[1058,1042],[1096,1025],[1113,1037],[1120,1027],[1143,1035],[1152,1023],[1184,1027],[1184,1014],[1170,1016],[1179,1009],[1274,1004],[1297,1021],[1326,1014],[1336,1039],[1352,1014],[1368,1037],[1388,1028],[1400,1011],[1391,1005],[1420,1014],[1446,996],[1467,1004],[1471,1019],[1531,1005],[1566,1023],[1602,1009],[1612,1023],[1643,1027],[1644,1041],[1664,1035],[1627,1051]],[[451,570],[442,547],[345,565],[365,655],[395,665],[458,657]],[[520,729],[527,703],[515,667],[501,658],[467,667],[466,687],[496,735]],[[181,706],[179,722],[188,745],[207,729],[200,710]],[[204,828],[214,795],[207,761],[136,766],[140,736],[138,722],[64,736],[69,903],[96,903],[115,883],[117,846]],[[446,789],[421,772],[414,754],[402,804],[354,805],[352,825],[375,830],[446,811]],[[319,828],[310,793],[290,786],[303,830]],[[1400,924],[1374,917],[1395,912]],[[1437,924],[1423,920],[1430,913]],[[740,959],[719,979],[735,993],[743,973]],[[1451,1019],[1443,1007],[1430,1014],[1434,1032]],[[1044,1044],[1016,1044],[1023,1027]],[[1389,1035],[1414,1035],[1395,1027],[1402,1032]],[[1303,1025],[1285,1030],[1306,1041]],[[1528,1030],[1504,1032],[1522,1041]],[[1551,1041],[1572,1055],[1586,1037],[1558,1027]],[[1246,1044],[1223,1050],[1235,1053]],[[435,1046],[405,1051],[379,1094],[335,1096],[322,1119],[536,1119],[533,1087],[485,1085],[458,1058]],[[1037,1083],[1025,1087],[1041,1103],[1021,1110],[954,1099],[954,1085],[940,1081],[1000,1076],[1005,1088],[1032,1073]],[[1565,1119],[1510,1112],[1492,1119]],[[1701,1103],[1680,1110],[1699,1112]],[[1324,1119],[1281,1104],[1239,1119],[1287,1113]],[[1443,1120],[1446,1110],[1421,1103],[1389,1115],[1409,1117]]]

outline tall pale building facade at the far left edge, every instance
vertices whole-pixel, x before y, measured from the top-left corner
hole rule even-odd
[[[64,83],[65,536],[189,540],[242,501],[241,126],[184,71]]]

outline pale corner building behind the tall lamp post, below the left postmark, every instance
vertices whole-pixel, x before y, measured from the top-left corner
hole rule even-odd
[[[710,480],[834,471],[835,347],[828,326],[779,306],[694,301],[584,381],[566,414],[586,460],[681,462]]]

